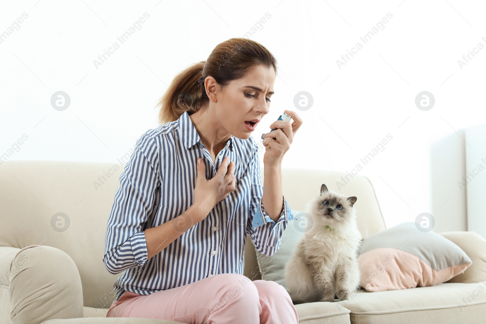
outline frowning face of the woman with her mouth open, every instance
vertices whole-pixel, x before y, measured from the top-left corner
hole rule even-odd
[[[250,137],[254,129],[248,129],[245,121],[260,121],[268,113],[274,83],[275,70],[258,65],[226,85],[217,96],[216,114],[228,133],[241,139]]]

